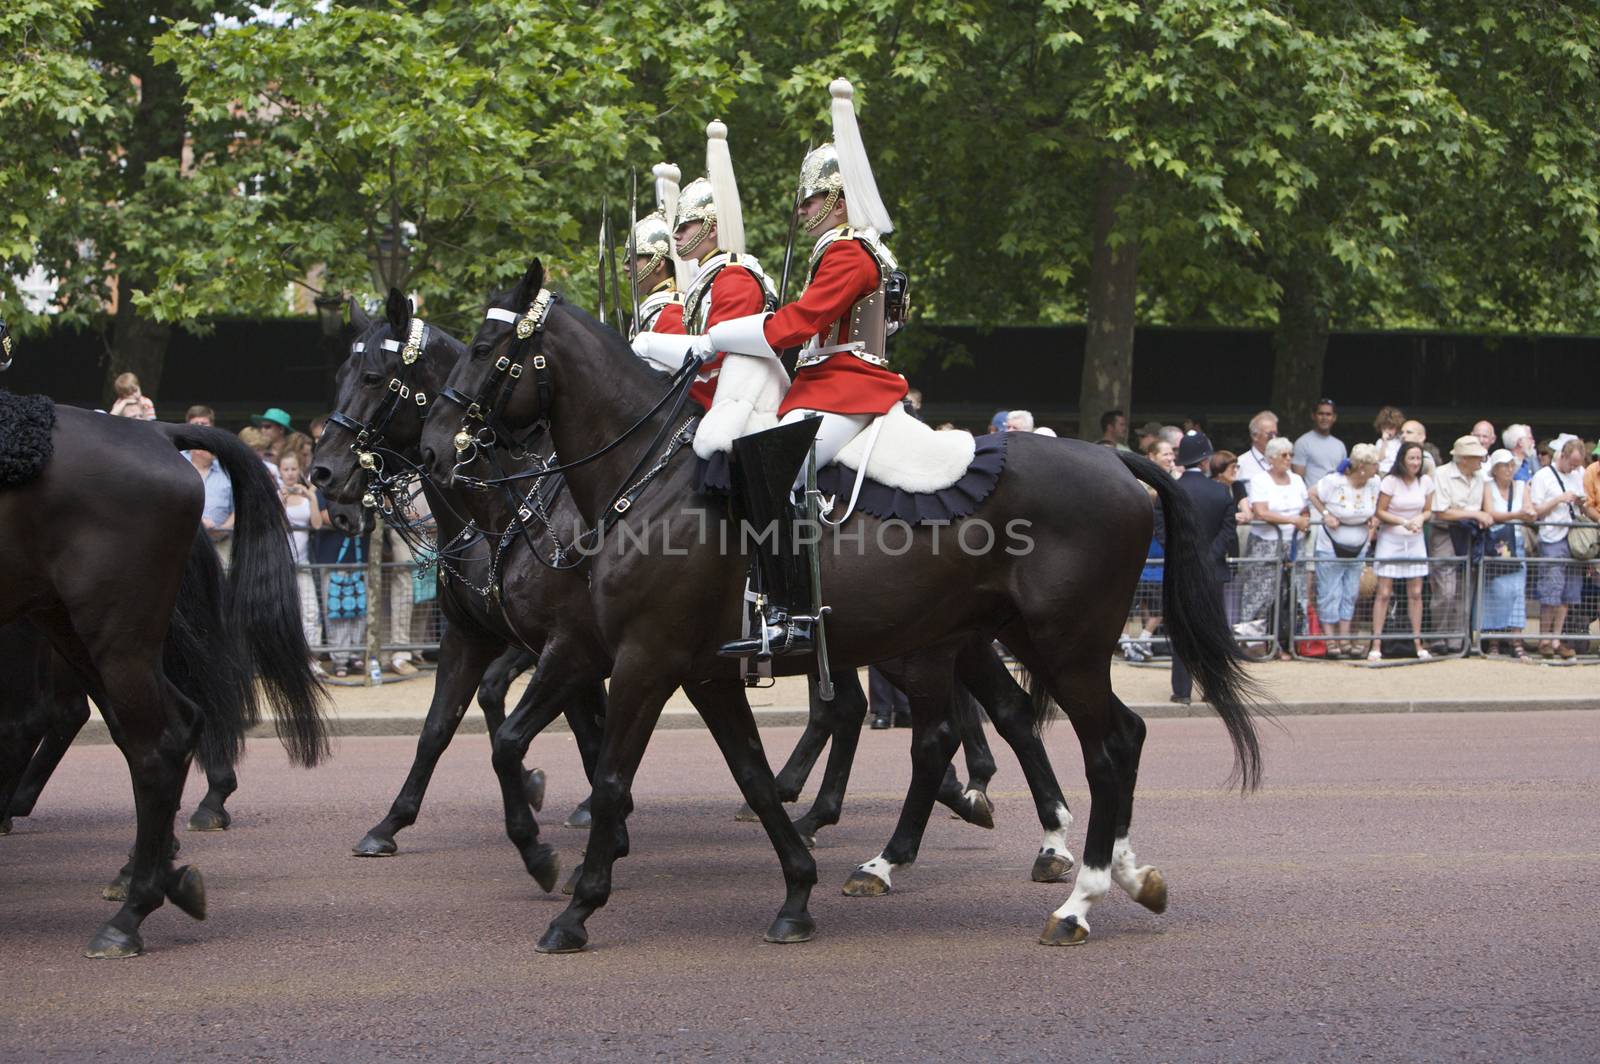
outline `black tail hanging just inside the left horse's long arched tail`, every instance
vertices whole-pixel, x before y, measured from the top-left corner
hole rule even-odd
[[[162,646],[166,678],[200,707],[202,768],[232,768],[245,752],[245,733],[258,720],[238,637],[227,622],[222,563],[203,528],[189,547],[178,603]]]

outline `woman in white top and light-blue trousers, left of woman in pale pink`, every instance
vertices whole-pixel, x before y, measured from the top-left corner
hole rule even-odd
[[[1328,656],[1342,658],[1350,646],[1355,600],[1362,589],[1366,550],[1378,530],[1378,448],[1357,443],[1347,472],[1317,482],[1310,504],[1322,514],[1317,530],[1317,614],[1328,634]]]

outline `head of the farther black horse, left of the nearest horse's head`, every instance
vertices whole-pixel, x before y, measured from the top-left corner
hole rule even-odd
[[[338,373],[338,402],[312,458],[310,482],[328,496],[336,528],[358,531],[363,506],[384,477],[414,453],[422,419],[461,346],[413,315],[411,302],[389,290],[384,317],[368,318],[352,304],[357,336]]]

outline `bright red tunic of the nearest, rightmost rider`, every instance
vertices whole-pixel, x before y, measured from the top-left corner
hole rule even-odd
[[[766,342],[773,350],[797,347],[813,336],[826,338],[834,323],[850,314],[878,286],[878,264],[856,240],[835,240],[822,253],[811,283],[800,298],[766,320]],[[883,354],[883,352],[872,352]],[[821,410],[830,414],[886,414],[906,398],[906,378],[870,362],[840,352],[795,373],[778,416],[790,410]]]

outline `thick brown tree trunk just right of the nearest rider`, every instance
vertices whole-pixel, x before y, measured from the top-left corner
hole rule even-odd
[[[1094,190],[1094,246],[1090,258],[1088,336],[1078,386],[1078,435],[1098,440],[1107,410],[1131,414],[1133,320],[1139,285],[1139,245],[1114,246],[1117,206],[1133,190],[1133,171],[1122,162],[1101,163]]]

